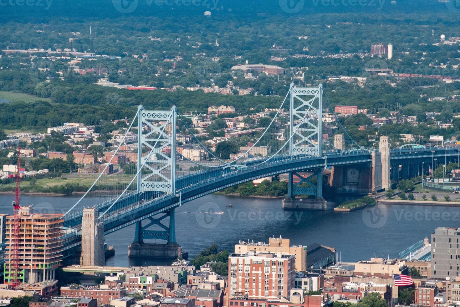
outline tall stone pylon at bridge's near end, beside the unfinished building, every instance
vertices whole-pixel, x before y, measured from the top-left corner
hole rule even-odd
[[[104,222],[98,220],[98,209],[83,209],[81,220],[81,257],[82,266],[104,266]]]

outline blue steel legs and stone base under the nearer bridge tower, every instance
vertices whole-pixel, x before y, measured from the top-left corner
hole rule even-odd
[[[161,223],[169,217],[169,226]],[[163,259],[187,259],[188,252],[176,242],[175,208],[168,210],[158,218],[148,217],[150,221],[144,226],[142,221],[136,224],[134,241],[128,247],[128,257],[131,258],[163,258]],[[145,220],[144,220],[145,221]],[[150,230],[154,226],[155,230]],[[161,229],[161,230],[158,230]],[[166,243],[145,243],[145,239],[162,240]]]

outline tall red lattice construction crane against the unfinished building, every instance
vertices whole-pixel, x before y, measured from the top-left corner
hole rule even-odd
[[[12,240],[10,245],[10,284],[14,289],[19,285],[19,191],[21,186],[21,147],[17,147],[17,173],[16,173],[16,191],[13,202],[14,224]],[[12,267],[11,267],[12,266]]]

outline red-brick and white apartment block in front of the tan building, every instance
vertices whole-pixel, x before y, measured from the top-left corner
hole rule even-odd
[[[230,297],[281,300],[294,288],[295,256],[272,253],[229,256]]]

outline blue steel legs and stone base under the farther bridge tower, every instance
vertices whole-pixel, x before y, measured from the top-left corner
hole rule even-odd
[[[283,209],[327,210],[327,202],[322,197],[322,168],[315,169],[308,177],[299,172],[289,173],[288,196],[283,199]],[[296,180],[294,180],[294,176]],[[316,177],[316,183],[311,179]],[[308,198],[296,197],[308,195]]]

